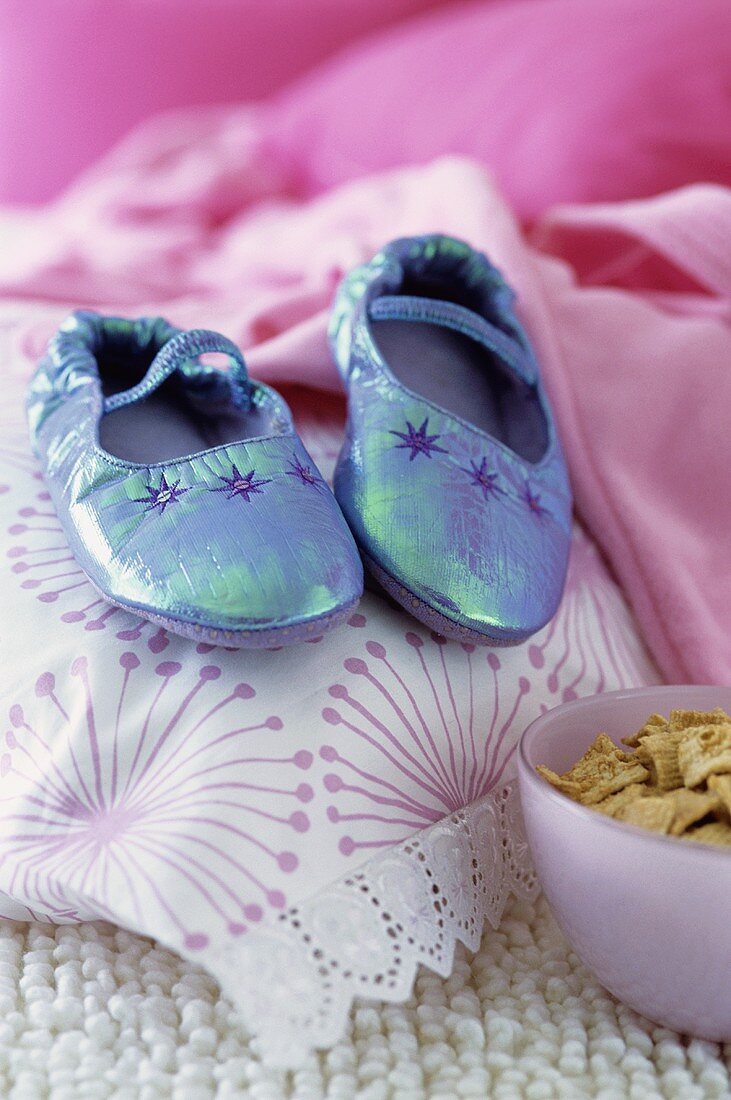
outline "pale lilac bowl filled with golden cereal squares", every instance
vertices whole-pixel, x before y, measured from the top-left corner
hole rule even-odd
[[[557,706],[519,748],[549,904],[602,986],[674,1031],[731,1042],[731,688]]]

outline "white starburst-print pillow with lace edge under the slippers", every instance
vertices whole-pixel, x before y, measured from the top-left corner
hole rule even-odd
[[[21,331],[5,318],[0,909],[157,937],[291,1062],[336,1037],[355,992],[408,996],[419,959],[447,969],[519,888],[502,789],[525,725],[657,674],[579,529],[558,614],[512,649],[444,641],[372,593],[325,638],[261,652],[104,604],[30,455]],[[329,475],[337,418],[321,397],[296,413]]]

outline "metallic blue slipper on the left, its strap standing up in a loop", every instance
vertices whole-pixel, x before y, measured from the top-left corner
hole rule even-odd
[[[203,365],[210,352],[230,370]],[[111,603],[186,637],[315,637],[363,591],[356,546],[278,394],[225,337],[73,314],[27,395],[71,550]]]

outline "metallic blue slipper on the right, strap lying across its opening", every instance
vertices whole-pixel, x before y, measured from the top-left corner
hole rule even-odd
[[[500,273],[462,241],[395,241],[336,295],[348,394],[335,496],[365,562],[447,637],[514,645],[554,614],[572,498]]]

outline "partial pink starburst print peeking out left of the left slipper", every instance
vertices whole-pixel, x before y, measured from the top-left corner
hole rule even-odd
[[[86,630],[118,626],[120,640],[144,637],[152,652],[162,652],[168,645],[167,631],[102,600],[77,564],[49,494],[42,490],[32,501],[18,510],[16,521],[8,528],[12,544],[5,554],[21,588],[42,604],[55,605],[62,623],[84,624]]]

